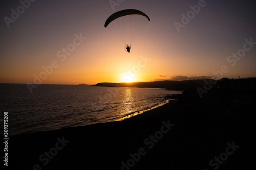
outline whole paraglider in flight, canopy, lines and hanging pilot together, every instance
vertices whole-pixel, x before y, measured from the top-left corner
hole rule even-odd
[[[135,15],[137,19],[134,19],[133,17],[131,17],[131,15]],[[124,19],[125,17],[127,20]],[[124,20],[120,20],[119,18],[123,18]],[[139,26],[140,23],[143,23],[143,20],[145,20],[145,18],[146,20],[150,21],[149,17],[142,11],[139,11],[137,9],[125,9],[122,11],[117,11],[114,14],[112,14],[110,17],[108,17],[104,27],[107,28],[108,25],[111,25],[108,28],[111,28],[113,29],[113,31],[116,32],[116,34],[122,39],[122,41],[125,44],[125,51],[130,53],[131,51],[130,44],[133,39],[134,30],[136,30],[134,29],[134,27]],[[125,35],[127,34],[125,33],[130,35],[130,42],[126,41]]]

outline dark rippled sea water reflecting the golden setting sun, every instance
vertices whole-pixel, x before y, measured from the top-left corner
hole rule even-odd
[[[26,84],[0,84],[0,108],[8,112],[9,135],[15,135],[115,121],[165,102],[166,94],[180,93],[80,85],[39,85],[30,93]]]

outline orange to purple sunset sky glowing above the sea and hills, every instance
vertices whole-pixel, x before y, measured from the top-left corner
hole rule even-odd
[[[229,69],[224,77],[255,77],[256,47],[246,51],[235,65],[234,61],[227,61],[228,56],[243,48],[245,39],[256,42],[255,23],[247,22],[253,12],[250,4],[241,7],[231,2],[211,2],[177,32],[174,22],[181,22],[181,14],[197,3],[196,0],[183,3],[132,0],[113,11],[108,1],[103,0],[101,3],[38,1],[10,27],[4,21],[0,25],[4,49],[0,83],[96,84],[177,76],[200,78],[213,76],[212,72],[221,71],[223,65]],[[6,3],[2,16],[10,17],[10,9],[18,5],[18,2]],[[59,6],[58,10],[55,6]],[[135,7],[151,21],[135,32],[128,53],[122,39],[104,28],[104,23],[114,12]],[[84,38],[75,40],[77,36]],[[65,54],[62,50],[68,47],[75,49]],[[146,62],[142,61],[145,57]],[[48,73],[42,67],[48,68]],[[35,81],[38,79],[35,77],[41,77],[41,81]]]

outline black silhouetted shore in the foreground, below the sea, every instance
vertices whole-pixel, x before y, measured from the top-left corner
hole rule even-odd
[[[15,170],[251,169],[256,91],[195,88],[180,99],[105,124],[10,136]]]

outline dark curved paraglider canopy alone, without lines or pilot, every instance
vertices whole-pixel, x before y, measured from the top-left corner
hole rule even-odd
[[[148,21],[150,21],[149,17],[145,13],[143,13],[142,11],[139,11],[137,9],[125,9],[125,10],[122,10],[122,11],[117,11],[114,14],[112,14],[110,17],[108,17],[104,26],[106,28],[108,26],[108,24],[111,23],[116,18],[123,17],[123,16],[126,16],[126,15],[136,15],[136,14],[137,15],[142,15],[142,16],[146,17],[148,19]]]

